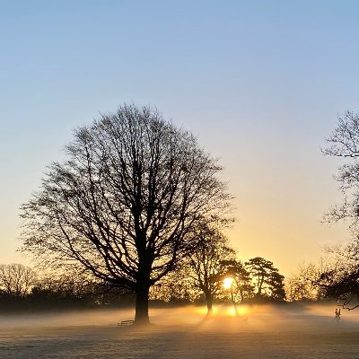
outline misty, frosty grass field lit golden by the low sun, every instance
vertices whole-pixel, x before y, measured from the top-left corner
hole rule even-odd
[[[359,358],[359,311],[334,309],[153,309],[151,328],[118,328],[133,311],[2,315],[0,358]]]

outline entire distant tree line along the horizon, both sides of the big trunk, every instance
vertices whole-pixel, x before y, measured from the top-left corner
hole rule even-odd
[[[318,302],[336,297],[322,285],[323,273],[334,268],[333,259],[302,263],[285,278],[265,258],[242,262],[223,234],[211,234],[214,237],[203,241],[181,267],[151,288],[152,305],[206,304],[210,313],[214,303]],[[84,274],[44,276],[21,264],[0,265],[0,311],[119,308],[133,306],[135,295]]]

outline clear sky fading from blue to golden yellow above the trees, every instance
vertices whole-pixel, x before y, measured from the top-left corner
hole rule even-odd
[[[359,110],[356,1],[0,0],[0,263],[29,264],[20,206],[76,127],[151,105],[224,166],[243,260],[289,275],[345,224],[325,138]]]

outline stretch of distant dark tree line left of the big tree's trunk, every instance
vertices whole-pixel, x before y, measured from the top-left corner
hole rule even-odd
[[[134,293],[70,273],[39,276],[22,264],[0,265],[0,311],[125,306]]]

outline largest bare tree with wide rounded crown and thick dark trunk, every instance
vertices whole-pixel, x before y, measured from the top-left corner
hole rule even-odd
[[[66,154],[22,206],[22,250],[135,291],[135,321],[146,323],[150,286],[231,200],[222,168],[190,133],[135,105],[78,128]]]

